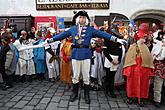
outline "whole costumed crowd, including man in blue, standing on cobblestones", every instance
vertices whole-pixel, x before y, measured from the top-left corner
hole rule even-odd
[[[144,106],[153,83],[153,102],[160,107],[165,78],[165,31],[157,24],[150,29],[149,23],[140,24],[138,30],[129,27],[124,30],[127,34],[120,32],[117,23],[92,27],[85,11],[77,12],[73,22],[73,27],[60,33],[53,28],[47,28],[45,33],[32,27],[15,35],[4,26],[0,32],[2,89],[13,87],[13,81],[31,82],[48,76],[51,82],[60,78],[68,89],[73,85],[70,101],[75,101],[82,80],[85,102],[89,104],[90,89],[103,87],[107,96],[116,98],[115,84],[126,83],[128,103]],[[35,48],[45,42],[47,45]]]

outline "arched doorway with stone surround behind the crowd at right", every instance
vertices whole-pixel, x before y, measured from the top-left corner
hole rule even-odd
[[[160,29],[165,26],[165,11],[164,10],[141,10],[135,12],[130,19],[134,19],[135,24],[139,26],[142,22],[147,22],[150,25],[150,29],[153,23],[156,23]]]

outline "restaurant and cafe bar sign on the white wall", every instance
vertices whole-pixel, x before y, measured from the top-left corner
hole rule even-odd
[[[36,0],[36,9],[109,9],[109,1],[110,0]]]

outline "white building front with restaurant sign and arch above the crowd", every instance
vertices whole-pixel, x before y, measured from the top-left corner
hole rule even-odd
[[[70,5],[65,8],[61,8],[61,5],[56,6],[56,9],[50,9],[53,5],[52,2],[58,2],[60,4],[72,3],[74,0],[0,0],[0,16],[57,16],[64,17],[65,21],[71,21],[74,11],[79,11],[77,5]],[[143,22],[145,20],[158,22],[165,24],[165,0],[75,0],[82,2],[88,1],[88,3],[95,3],[90,5],[93,9],[85,9],[90,17],[93,16],[109,16],[110,13],[119,13],[126,16],[129,20],[135,19]],[[97,5],[97,3],[107,2],[107,5]],[[41,5],[38,4],[43,4]],[[49,4],[45,5],[45,4]],[[55,7],[55,6],[54,6]],[[75,7],[76,9],[72,9]],[[106,9],[102,9],[105,8]],[[80,7],[82,8],[82,7]],[[86,7],[89,8],[89,7]],[[95,9],[98,8],[98,9]]]

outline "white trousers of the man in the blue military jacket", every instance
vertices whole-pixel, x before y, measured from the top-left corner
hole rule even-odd
[[[80,73],[82,73],[83,82],[89,85],[89,72],[90,72],[90,59],[85,60],[75,60],[72,59],[72,83],[76,84],[79,82]]]

